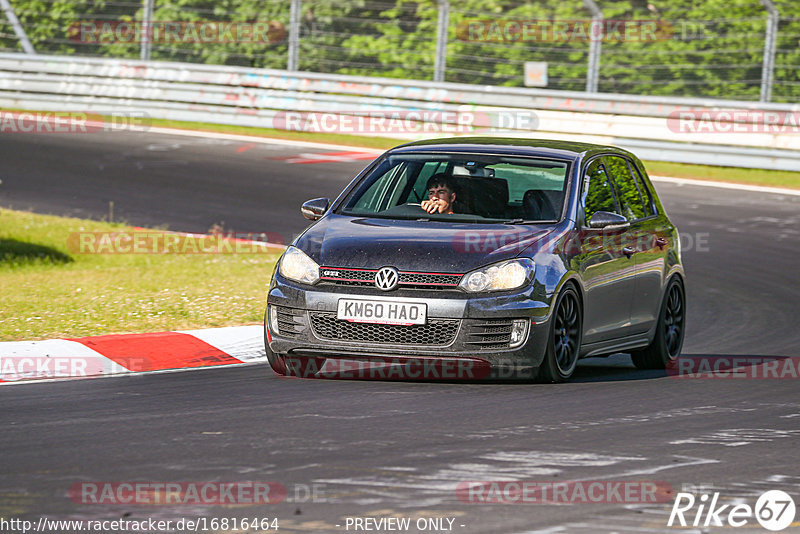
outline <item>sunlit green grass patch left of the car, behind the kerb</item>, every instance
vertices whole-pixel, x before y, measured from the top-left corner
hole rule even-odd
[[[75,232],[128,230],[122,224],[0,209],[0,340],[261,321],[277,249],[82,254],[68,246]]]

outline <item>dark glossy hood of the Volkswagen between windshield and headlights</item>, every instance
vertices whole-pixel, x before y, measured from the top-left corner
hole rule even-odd
[[[550,226],[464,224],[330,214],[295,245],[320,266],[465,273],[518,256]]]

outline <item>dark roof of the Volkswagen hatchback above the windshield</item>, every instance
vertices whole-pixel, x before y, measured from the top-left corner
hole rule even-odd
[[[517,156],[561,157],[571,160],[595,154],[616,153],[632,157],[627,150],[610,145],[595,145],[576,141],[553,139],[525,139],[520,137],[450,137],[426,139],[395,147],[392,154],[413,152],[464,152],[511,154]]]

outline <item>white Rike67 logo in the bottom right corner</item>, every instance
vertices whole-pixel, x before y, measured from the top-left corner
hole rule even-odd
[[[781,490],[770,490],[761,494],[755,506],[737,501],[721,504],[719,492],[678,493],[667,521],[668,527],[743,527],[757,521],[763,528],[778,532],[794,521],[794,500]]]

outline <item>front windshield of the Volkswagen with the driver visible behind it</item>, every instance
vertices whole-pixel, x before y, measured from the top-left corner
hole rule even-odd
[[[519,156],[391,155],[361,180],[337,213],[453,222],[558,220],[569,166],[566,160]]]

